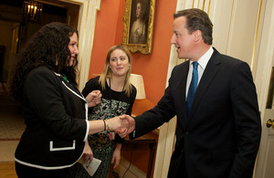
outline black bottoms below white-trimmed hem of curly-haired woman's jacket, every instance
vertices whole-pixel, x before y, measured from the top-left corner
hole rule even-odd
[[[43,170],[30,166],[23,165],[21,163],[16,162],[16,174],[18,178],[33,178],[33,177],[48,177],[48,178],[62,178],[67,177],[66,173],[68,173],[69,168],[58,169],[58,170]]]

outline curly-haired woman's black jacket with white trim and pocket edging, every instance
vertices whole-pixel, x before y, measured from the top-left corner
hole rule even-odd
[[[88,134],[86,100],[45,67],[30,71],[23,92],[26,131],[16,148],[16,162],[47,170],[73,165]]]

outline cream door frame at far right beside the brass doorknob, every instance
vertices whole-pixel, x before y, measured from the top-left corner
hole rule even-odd
[[[269,92],[270,72],[273,65],[274,52],[274,2],[266,0],[265,15],[263,18],[262,37],[258,54],[258,69],[255,75],[255,85],[258,91],[258,106],[261,110],[262,136],[258,151],[258,160],[255,167],[255,178],[261,178],[267,166],[268,129],[266,129],[265,109]]]

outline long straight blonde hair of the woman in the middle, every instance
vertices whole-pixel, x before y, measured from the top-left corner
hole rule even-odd
[[[102,73],[100,74],[99,83],[100,83],[102,89],[106,89],[106,80],[111,79],[111,76],[112,76],[112,70],[110,68],[111,53],[116,49],[122,50],[129,58],[130,66],[129,66],[128,72],[126,74],[126,78],[125,78],[125,82],[124,82],[124,89],[125,89],[126,95],[130,96],[131,91],[132,91],[132,85],[130,83],[130,77],[131,77],[131,73],[132,73],[132,56],[131,56],[131,52],[126,47],[117,45],[117,46],[113,46],[109,49],[107,57],[106,57],[104,69],[103,69]]]

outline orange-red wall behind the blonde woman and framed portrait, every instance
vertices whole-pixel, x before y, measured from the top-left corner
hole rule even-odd
[[[125,0],[101,0],[96,19],[90,78],[101,73],[109,48],[121,44],[125,4]],[[175,8],[176,1],[155,0],[152,53],[132,54],[132,73],[142,75],[146,93],[146,99],[135,100],[132,114],[142,114],[143,111],[153,108],[163,96]],[[128,157],[127,152],[122,153],[122,156]],[[132,155],[132,162],[146,173],[147,164],[144,162],[148,162],[148,157],[149,152],[136,152]]]

